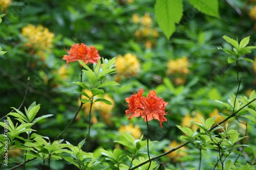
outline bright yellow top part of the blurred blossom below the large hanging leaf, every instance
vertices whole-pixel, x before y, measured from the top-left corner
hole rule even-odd
[[[187,57],[183,56],[182,58],[176,60],[170,60],[167,64],[167,75],[174,73],[180,73],[186,75],[188,73],[189,62]]]

